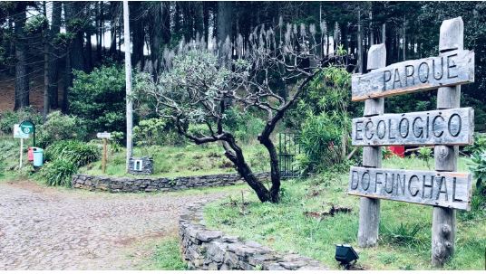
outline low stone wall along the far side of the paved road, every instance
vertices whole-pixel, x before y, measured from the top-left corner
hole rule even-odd
[[[268,174],[257,174],[257,177],[264,179],[268,177]],[[238,184],[241,182],[241,176],[238,174],[200,175],[176,178],[130,178],[74,175],[72,179],[72,185],[74,188],[88,189],[91,191],[108,191],[112,193],[175,191],[195,187],[225,186]]]

